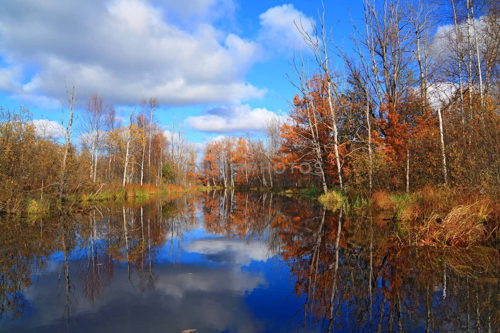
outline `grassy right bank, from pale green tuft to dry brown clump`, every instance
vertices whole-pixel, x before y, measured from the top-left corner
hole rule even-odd
[[[318,199],[331,209],[345,205],[387,212],[395,236],[405,245],[467,247],[498,238],[498,200],[478,191],[426,186],[410,194],[332,191]]]

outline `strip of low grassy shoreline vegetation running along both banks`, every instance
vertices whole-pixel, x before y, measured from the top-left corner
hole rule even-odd
[[[57,193],[28,198],[9,210],[8,216],[36,217],[44,214],[84,212],[90,205],[105,202],[134,201],[140,204],[151,198],[172,199],[186,193],[203,191],[261,191],[284,196],[302,196],[318,200],[327,209],[343,207],[353,214],[379,212],[383,220],[394,225],[393,236],[401,245],[468,248],[490,245],[498,241],[498,211],[495,198],[479,191],[458,190],[449,187],[424,186],[421,190],[389,193],[375,190],[371,194],[356,190],[332,190],[321,194],[316,186],[309,188],[278,189],[270,187],[201,186],[183,187],[173,184],[101,184],[83,194],[73,192],[61,201]],[[64,208],[64,207],[65,208]],[[7,206],[4,206],[7,207]]]

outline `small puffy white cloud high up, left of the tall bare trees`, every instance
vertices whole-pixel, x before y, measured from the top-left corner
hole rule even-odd
[[[298,48],[303,44],[302,35],[295,23],[300,26],[302,21],[305,29],[310,26],[310,17],[297,10],[291,3],[271,7],[261,13],[259,19],[260,38],[267,45],[280,49]]]

